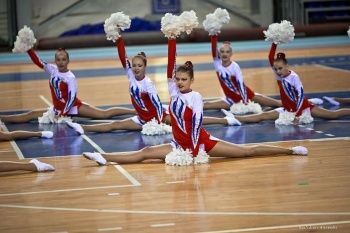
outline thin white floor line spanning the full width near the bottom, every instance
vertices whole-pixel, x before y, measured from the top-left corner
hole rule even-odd
[[[3,208],[16,209],[40,209],[73,212],[101,212],[122,214],[176,214],[176,215],[223,215],[223,216],[350,216],[350,212],[185,212],[185,211],[146,211],[146,210],[111,210],[111,209],[86,209],[86,208],[62,208],[46,206],[23,206],[0,204]],[[350,223],[350,221],[349,221]],[[305,225],[305,224],[304,224]],[[299,224],[300,226],[300,224]]]

